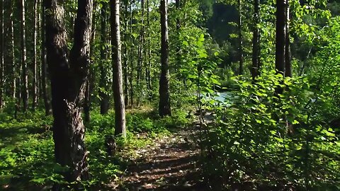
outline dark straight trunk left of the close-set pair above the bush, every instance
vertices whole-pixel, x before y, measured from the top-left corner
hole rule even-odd
[[[259,76],[260,69],[260,1],[254,0],[254,31],[253,31],[253,54],[251,64],[251,76],[253,81]]]

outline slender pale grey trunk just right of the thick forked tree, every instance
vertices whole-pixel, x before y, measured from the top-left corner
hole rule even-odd
[[[126,137],[123,72],[120,44],[120,1],[111,0],[111,41],[113,67],[113,99],[115,101],[115,135]]]

